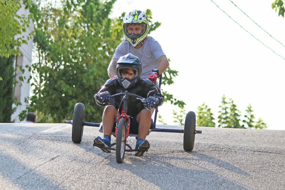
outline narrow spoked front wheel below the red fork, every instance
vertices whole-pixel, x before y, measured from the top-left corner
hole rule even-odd
[[[126,147],[126,120],[121,118],[117,125],[117,139],[116,139],[116,160],[117,163],[123,163],[125,157]]]

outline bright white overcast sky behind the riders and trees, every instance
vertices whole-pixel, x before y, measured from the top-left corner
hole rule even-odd
[[[225,95],[233,99],[242,115],[250,103],[256,120],[262,118],[270,130],[285,130],[285,47],[279,43],[285,44],[285,19],[271,9],[273,0],[232,0],[277,42],[231,1],[213,1],[255,37],[211,0],[118,0],[111,16],[150,9],[152,21],[162,23],[149,35],[170,58],[170,68],[179,71],[174,85],[162,86],[162,90],[183,100],[187,112],[196,112],[205,102],[217,123],[221,97]],[[172,109],[177,107],[170,103],[159,108],[167,124],[175,124]]]

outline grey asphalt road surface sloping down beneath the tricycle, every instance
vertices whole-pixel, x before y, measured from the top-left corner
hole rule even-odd
[[[192,152],[183,134],[152,132],[144,156],[117,164],[92,147],[96,127],[74,144],[71,124],[1,123],[0,189],[285,189],[284,130],[196,129]]]

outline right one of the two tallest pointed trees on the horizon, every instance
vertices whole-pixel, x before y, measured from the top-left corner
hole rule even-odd
[[[237,105],[235,105],[233,99],[229,99],[229,125],[228,128],[242,128],[241,127],[241,112],[237,109]]]

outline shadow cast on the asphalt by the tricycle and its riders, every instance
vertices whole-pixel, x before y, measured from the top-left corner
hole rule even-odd
[[[232,172],[249,175],[246,172],[201,153],[191,152],[189,155],[190,158],[165,155],[140,158],[131,156],[123,164],[117,164],[115,158],[108,157],[107,165],[122,171],[128,170],[162,189],[172,189],[174,184],[175,189],[228,189],[229,187],[231,189],[247,189],[247,187],[203,167],[203,162],[210,162]]]

